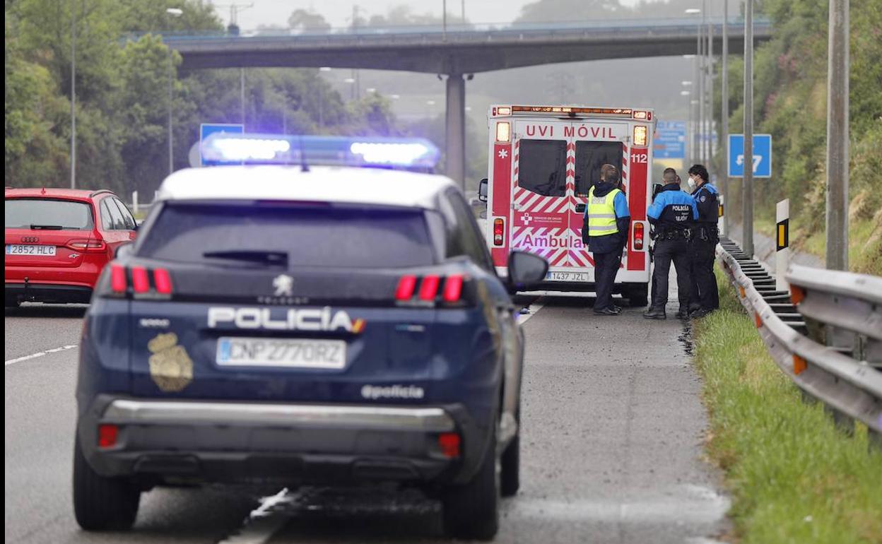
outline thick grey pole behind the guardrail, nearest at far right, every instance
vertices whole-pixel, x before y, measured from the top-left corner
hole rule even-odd
[[[826,267],[848,270],[848,0],[831,0],[829,17]]]

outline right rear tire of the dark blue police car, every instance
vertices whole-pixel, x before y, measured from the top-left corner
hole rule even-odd
[[[472,481],[447,489],[444,503],[445,532],[464,540],[493,540],[499,530],[499,472],[497,425],[491,425],[490,445]]]

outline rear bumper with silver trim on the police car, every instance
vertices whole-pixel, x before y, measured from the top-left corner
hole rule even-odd
[[[116,425],[99,446],[98,428]],[[460,405],[347,406],[99,395],[78,425],[96,473],[146,481],[467,481],[488,433]],[[460,436],[448,457],[438,436]]]

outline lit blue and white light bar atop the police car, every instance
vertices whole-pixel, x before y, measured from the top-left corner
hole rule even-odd
[[[305,164],[350,167],[435,168],[439,152],[424,138],[291,136],[217,132],[201,144],[217,164]]]

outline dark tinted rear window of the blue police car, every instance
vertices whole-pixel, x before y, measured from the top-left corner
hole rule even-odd
[[[169,203],[137,253],[232,266],[388,268],[435,261],[421,211],[275,202]]]

